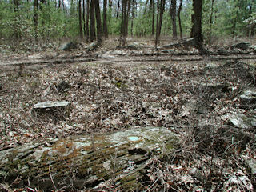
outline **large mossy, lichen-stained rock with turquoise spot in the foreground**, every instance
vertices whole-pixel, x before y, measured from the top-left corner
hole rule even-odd
[[[166,128],[146,127],[64,138],[47,146],[33,143],[0,151],[0,180],[10,184],[21,178],[16,187],[44,191],[99,190],[108,181],[118,191],[140,190],[150,158],[172,153],[178,142]]]

